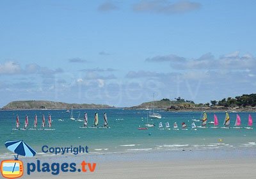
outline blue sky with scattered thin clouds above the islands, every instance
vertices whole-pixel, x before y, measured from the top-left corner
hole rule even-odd
[[[255,93],[256,1],[0,1],[0,107]]]

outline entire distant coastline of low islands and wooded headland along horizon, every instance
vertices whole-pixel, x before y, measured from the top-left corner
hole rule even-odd
[[[113,109],[121,108],[124,110],[163,110],[170,112],[182,111],[228,111],[228,112],[256,112],[256,94],[241,95],[239,97],[228,97],[222,100],[211,100],[211,104],[195,104],[192,100],[185,100],[183,98],[175,98],[170,100],[163,98],[162,100],[155,100],[150,102],[143,102],[140,105],[132,107],[115,107],[107,104],[68,104],[65,102],[53,102],[47,100],[20,100],[13,101],[5,105],[1,110],[57,110],[57,109]]]

